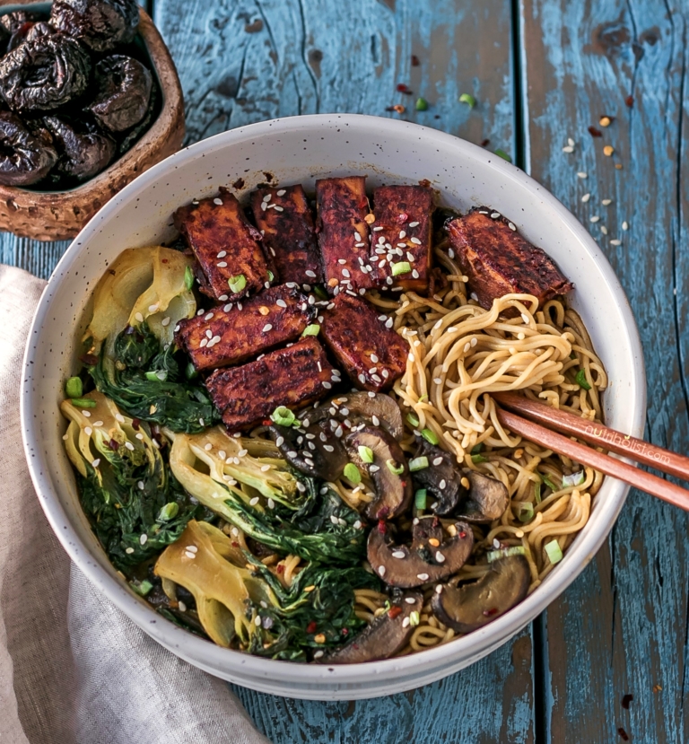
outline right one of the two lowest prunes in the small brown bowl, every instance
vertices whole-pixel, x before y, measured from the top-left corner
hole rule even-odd
[[[52,116],[44,117],[42,123],[53,136],[60,156],[52,176],[90,179],[108,166],[118,149],[115,140],[94,125]]]

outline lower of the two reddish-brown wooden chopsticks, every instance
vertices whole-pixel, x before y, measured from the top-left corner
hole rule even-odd
[[[504,394],[502,393],[495,393],[493,394],[493,398],[495,398],[496,401],[501,402],[501,397],[503,395]],[[519,399],[524,400],[525,398]],[[528,402],[531,403],[531,401]],[[534,405],[538,406],[539,404]],[[526,418],[517,416],[502,407],[497,408],[497,416],[501,425],[508,428],[510,432],[518,433],[530,442],[540,444],[548,450],[553,450],[558,454],[566,455],[571,458],[571,460],[579,462],[582,465],[588,465],[589,468],[594,468],[601,473],[605,473],[606,476],[612,476],[624,480],[625,483],[628,483],[635,488],[641,488],[642,491],[646,491],[650,495],[657,496],[659,499],[667,501],[667,503],[671,503],[674,506],[678,506],[680,509],[689,512],[689,491],[686,491],[684,488],[676,486],[674,483],[663,480],[663,478],[654,476],[651,473],[647,473],[645,470],[634,468],[632,465],[616,460],[603,452],[591,449],[585,444],[572,442],[569,437],[556,433],[551,429],[546,429],[544,426],[535,424],[532,421],[528,421]],[[575,418],[575,416],[572,416],[572,418]],[[581,420],[580,424],[582,425],[581,428],[584,429],[587,422]],[[556,426],[556,424],[551,425]],[[571,433],[572,435],[580,436],[580,433]],[[622,436],[624,437],[624,434],[622,434]],[[597,442],[597,440],[594,441]],[[624,454],[633,456],[634,453],[624,451]],[[681,456],[676,455],[676,457]],[[658,463],[655,460],[652,464],[653,467],[658,468]]]

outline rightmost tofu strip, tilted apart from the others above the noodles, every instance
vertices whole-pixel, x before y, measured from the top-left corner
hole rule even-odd
[[[574,286],[544,250],[522,238],[509,220],[492,209],[472,209],[452,220],[447,229],[449,244],[469,278],[469,291],[486,310],[493,307],[493,300],[510,293],[533,294],[543,307]]]

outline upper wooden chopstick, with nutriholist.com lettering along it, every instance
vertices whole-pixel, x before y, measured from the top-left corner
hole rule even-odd
[[[559,432],[576,436],[584,442],[603,447],[607,451],[617,452],[631,460],[641,462],[642,465],[649,465],[650,468],[656,468],[663,473],[689,480],[689,458],[684,455],[664,450],[642,439],[617,432],[609,426],[585,421],[567,411],[560,411],[514,393],[493,393],[492,395],[501,407],[509,408],[510,411],[521,414],[521,416],[552,427]]]

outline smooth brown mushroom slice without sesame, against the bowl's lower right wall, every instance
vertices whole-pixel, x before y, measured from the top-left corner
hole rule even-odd
[[[458,633],[471,633],[500,617],[527,596],[531,572],[524,556],[498,558],[478,582],[443,585],[432,599],[435,617]]]

